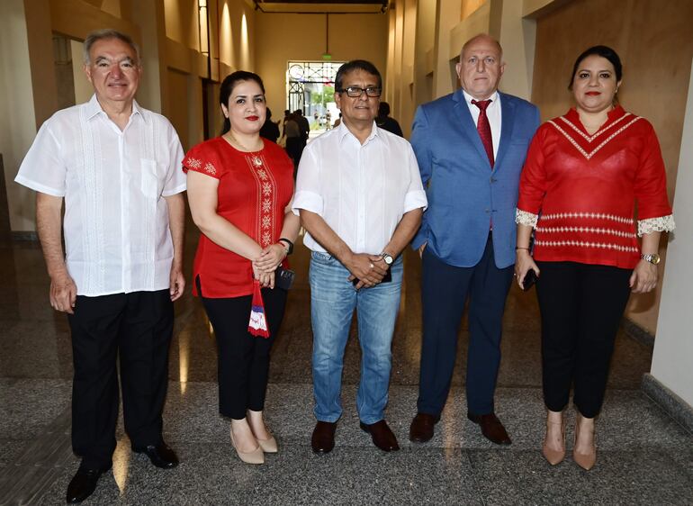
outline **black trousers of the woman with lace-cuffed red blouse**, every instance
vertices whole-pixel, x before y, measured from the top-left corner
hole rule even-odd
[[[562,411],[572,385],[578,411],[594,418],[604,402],[633,271],[576,262],[537,262],[537,266],[546,407]]]

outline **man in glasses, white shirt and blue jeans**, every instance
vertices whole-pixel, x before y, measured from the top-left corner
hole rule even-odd
[[[384,451],[399,449],[384,420],[392,332],[400,307],[401,251],[426,208],[410,143],[375,125],[382,78],[365,60],[339,68],[335,102],[342,122],[303,151],[293,211],[311,253],[316,453],[335,444],[342,414],[344,348],[354,310],[363,352],[356,407],[361,429]]]

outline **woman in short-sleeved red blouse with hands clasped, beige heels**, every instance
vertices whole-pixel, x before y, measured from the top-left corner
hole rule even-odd
[[[193,294],[202,298],[219,351],[219,411],[231,419],[238,456],[262,464],[277,451],[263,419],[269,351],[284,316],[286,292],[275,269],[291,253],[299,219],[291,212],[293,165],[284,149],[262,140],[265,87],[238,71],[220,86],[226,117],[220,137],[183,160],[193,221],[202,231],[193,264]],[[262,288],[269,338],[248,332],[254,280]]]

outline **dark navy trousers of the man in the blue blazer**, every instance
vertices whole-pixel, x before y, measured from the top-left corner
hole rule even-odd
[[[419,375],[419,412],[438,415],[446,405],[455,368],[457,334],[469,298],[467,409],[474,414],[494,411],[500,366],[503,311],[513,267],[498,268],[491,235],[479,263],[454,267],[424,249],[421,266],[423,338]]]

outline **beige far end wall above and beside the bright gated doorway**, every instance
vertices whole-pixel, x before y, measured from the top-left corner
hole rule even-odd
[[[368,59],[385,74],[388,18],[383,14],[330,14],[329,52],[334,61]],[[257,14],[256,71],[265,82],[276,118],[286,109],[286,63],[320,61],[325,52],[324,14]]]

